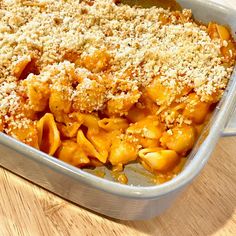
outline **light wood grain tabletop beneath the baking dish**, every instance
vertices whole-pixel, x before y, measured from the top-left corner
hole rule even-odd
[[[236,0],[220,1],[236,7]],[[236,138],[222,138],[201,175],[162,216],[119,221],[0,168],[0,236],[236,235]]]

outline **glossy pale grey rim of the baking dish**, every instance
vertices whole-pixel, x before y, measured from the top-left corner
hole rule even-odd
[[[204,0],[195,0],[196,3],[214,6],[215,8],[220,8],[221,10],[227,11],[228,15],[235,14],[236,10],[229,7],[223,6],[212,1],[204,2]],[[236,17],[235,17],[236,20]],[[83,171],[77,167],[69,165],[63,161],[60,161],[54,157],[51,157],[39,150],[36,150],[18,140],[4,134],[0,133],[0,144],[18,152],[25,156],[25,158],[33,159],[35,162],[46,165],[52,168],[54,171],[60,172],[71,176],[76,181],[82,182],[92,188],[115,194],[118,196],[126,198],[135,199],[153,199],[159,198],[161,196],[170,194],[177,191],[183,186],[191,182],[202,170],[204,165],[207,163],[211,148],[215,146],[218,138],[221,135],[230,114],[234,109],[234,104],[236,103],[236,67],[231,75],[227,89],[219,103],[220,109],[216,108],[213,118],[212,126],[210,128],[209,134],[196,152],[194,158],[189,162],[189,164],[184,168],[180,174],[178,174],[172,180],[163,183],[161,185],[154,186],[131,186],[123,185],[117,182],[112,182],[104,178],[97,177],[90,173]],[[193,153],[194,151],[192,151]],[[190,155],[191,156],[191,155]]]

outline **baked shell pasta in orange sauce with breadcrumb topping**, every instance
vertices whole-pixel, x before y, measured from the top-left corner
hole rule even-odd
[[[227,27],[112,0],[10,2],[0,132],[79,168],[105,165],[121,183],[132,162],[158,183],[178,174],[233,71]]]

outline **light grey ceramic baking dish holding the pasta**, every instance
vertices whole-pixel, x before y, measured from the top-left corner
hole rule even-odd
[[[233,32],[236,30],[235,13],[228,8],[203,1],[182,0],[179,3],[184,8],[192,9],[197,20],[229,24]],[[210,123],[189,155],[184,170],[176,178],[162,185],[150,186],[148,178],[140,175],[140,170],[135,165],[126,170],[133,186],[98,178],[4,134],[0,134],[0,164],[72,202],[101,214],[123,220],[151,218],[165,210],[206,164],[234,109],[235,73],[234,71],[228,89],[215,109]],[[234,122],[229,124],[234,125]],[[234,130],[227,128],[225,135],[232,134]],[[139,186],[135,182],[137,177]]]

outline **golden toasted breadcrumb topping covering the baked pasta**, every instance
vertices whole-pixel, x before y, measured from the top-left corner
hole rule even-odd
[[[116,5],[113,0],[3,0],[0,123],[29,123],[27,117],[16,116],[31,106],[24,87],[31,75],[20,70],[29,62],[28,70],[39,81],[63,91],[81,112],[132,97],[157,76],[173,91],[169,103],[186,87],[201,101],[216,92],[220,97],[233,69],[223,65],[221,44],[186,9],[180,17],[178,12]]]

